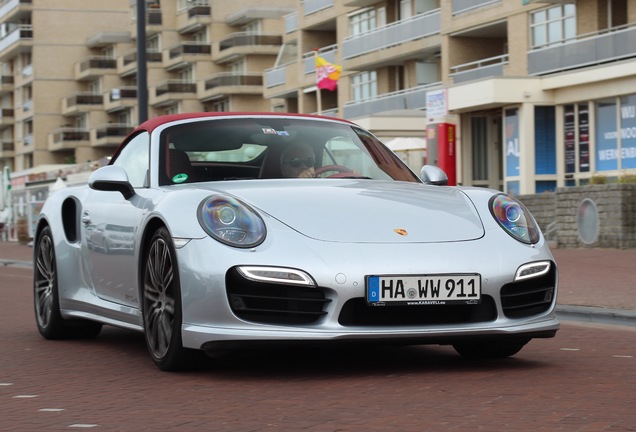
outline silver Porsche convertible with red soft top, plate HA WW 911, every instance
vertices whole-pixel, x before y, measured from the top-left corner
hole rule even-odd
[[[496,190],[413,173],[354,123],[195,113],[137,127],[34,238],[47,339],[143,332],[162,370],[267,343],[448,344],[507,357],[553,337],[557,267]]]

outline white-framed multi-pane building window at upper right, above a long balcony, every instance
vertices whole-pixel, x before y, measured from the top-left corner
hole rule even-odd
[[[564,4],[533,12],[532,48],[562,43],[576,37],[576,5]]]

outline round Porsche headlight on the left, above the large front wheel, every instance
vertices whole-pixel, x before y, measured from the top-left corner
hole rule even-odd
[[[232,197],[206,198],[199,204],[197,219],[212,238],[229,246],[248,248],[265,240],[263,219],[247,204]]]

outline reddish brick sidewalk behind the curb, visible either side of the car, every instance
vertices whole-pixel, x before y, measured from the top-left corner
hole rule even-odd
[[[636,325],[636,249],[553,249],[561,319]],[[0,242],[0,265],[28,265],[33,248]]]

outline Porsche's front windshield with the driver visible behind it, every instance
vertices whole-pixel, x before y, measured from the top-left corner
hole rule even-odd
[[[160,184],[271,178],[364,178],[419,182],[369,132],[293,117],[195,121],[161,133]]]

